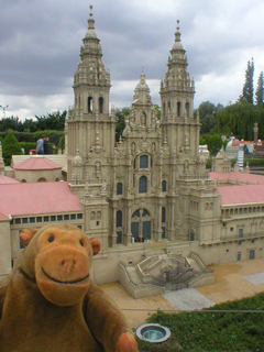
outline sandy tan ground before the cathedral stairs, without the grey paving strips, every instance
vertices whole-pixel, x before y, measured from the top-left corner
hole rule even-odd
[[[264,258],[217,265],[210,268],[215,271],[215,283],[196,287],[196,289],[216,304],[241,299],[264,292],[264,283],[252,284],[243,278],[243,276],[264,273]],[[176,311],[176,308],[163,296],[134,299],[119,283],[105,284],[100,287],[114,299],[132,328],[138,328],[144,323],[147,317],[157,309]]]

